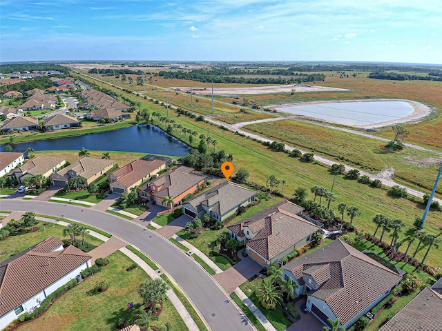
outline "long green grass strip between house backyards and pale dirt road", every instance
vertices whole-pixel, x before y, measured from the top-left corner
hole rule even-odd
[[[345,86],[343,87],[345,88]],[[143,103],[142,108],[147,108],[151,112],[160,112],[162,116],[166,115],[164,107],[154,105],[150,101],[144,101],[141,98],[135,97],[135,99]],[[336,210],[336,206],[341,202],[356,206],[362,214],[354,220],[354,225],[367,232],[374,232],[376,227],[372,219],[376,214],[385,214],[394,219],[401,219],[408,227],[412,226],[415,217],[422,217],[423,207],[421,205],[416,205],[416,203],[406,199],[393,199],[387,196],[385,190],[369,188],[367,185],[362,185],[356,181],[334,176],[330,174],[329,169],[325,166],[304,163],[282,152],[271,152],[271,150],[252,139],[240,137],[210,123],[194,121],[189,117],[178,117],[175,112],[170,112],[169,117],[175,119],[177,124],[196,130],[198,134],[207,134],[206,132],[209,130],[209,136],[218,141],[216,148],[233,154],[233,163],[235,163],[236,169],[249,170],[249,180],[264,185],[267,177],[271,174],[274,174],[280,180],[284,179],[286,181],[284,192],[287,195],[291,195],[298,187],[307,188],[307,190],[314,185],[331,188],[333,179],[336,179],[334,193],[337,200],[332,203],[331,207]],[[156,119],[155,124],[162,128],[166,125],[158,123]],[[184,134],[178,132],[174,132],[174,134],[186,142],[189,141],[189,136],[184,137]],[[198,142],[193,143],[193,146],[196,147],[197,145]],[[312,198],[311,194],[308,199]],[[439,235],[441,226],[441,213],[431,211],[428,214],[424,230]],[[403,234],[401,238],[403,238]],[[414,247],[416,247],[415,245]],[[422,259],[424,253],[424,249],[420,250],[417,254],[418,259]],[[427,257],[427,263],[438,265],[440,255],[439,251],[432,250]]]

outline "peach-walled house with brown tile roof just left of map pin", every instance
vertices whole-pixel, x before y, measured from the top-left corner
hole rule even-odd
[[[193,174],[194,170],[189,167],[180,167],[142,185],[139,190],[140,198],[155,200],[157,205],[163,205],[163,197],[173,197],[173,203],[180,204],[184,197],[193,194],[206,181],[206,176]]]

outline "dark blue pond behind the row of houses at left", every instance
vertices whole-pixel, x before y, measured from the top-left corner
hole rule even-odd
[[[0,150],[3,151],[4,147],[0,146]],[[189,148],[181,141],[155,126],[148,128],[145,124],[84,136],[16,143],[12,147],[12,151],[24,151],[29,147],[37,151],[81,150],[84,147],[88,150],[143,152],[174,157],[182,157],[189,152]]]

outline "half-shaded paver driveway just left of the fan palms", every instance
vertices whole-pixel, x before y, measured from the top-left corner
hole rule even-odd
[[[258,274],[260,270],[262,270],[261,265],[253,261],[251,257],[246,257],[226,271],[214,274],[213,278],[230,294],[244,281]]]

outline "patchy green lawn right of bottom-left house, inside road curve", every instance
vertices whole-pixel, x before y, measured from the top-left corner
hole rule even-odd
[[[136,289],[148,279],[144,270],[138,268],[126,272],[133,262],[122,252],[115,252],[108,258],[109,264],[97,272],[93,278],[86,279],[53,303],[49,310],[38,319],[20,326],[17,330],[117,330],[117,321],[126,319],[133,323],[142,299]],[[97,292],[99,281],[108,283],[108,290]],[[134,309],[126,305],[133,302]],[[186,330],[186,325],[170,301],[165,301],[158,321],[151,321],[157,328],[172,324],[173,330]]]

